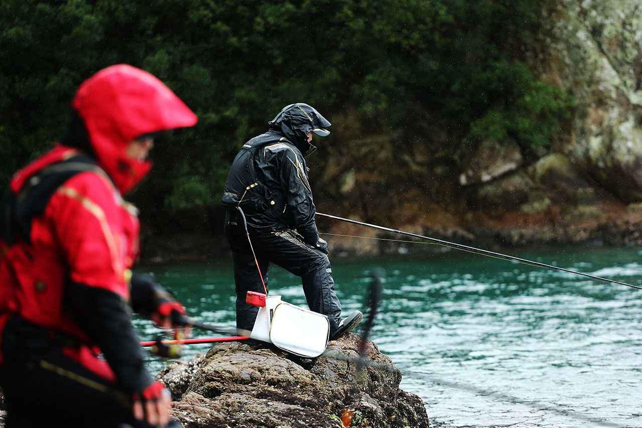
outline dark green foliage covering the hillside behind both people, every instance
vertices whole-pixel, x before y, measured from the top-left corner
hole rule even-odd
[[[238,147],[291,102],[331,120],[356,109],[371,132],[437,118],[453,141],[545,147],[571,105],[522,58],[546,1],[4,0],[0,179],[62,136],[74,89],[118,62],[199,116],[155,149],[135,198],[156,208],[218,201]]]

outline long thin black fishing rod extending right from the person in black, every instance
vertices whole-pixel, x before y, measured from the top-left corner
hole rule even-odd
[[[431,242],[434,242],[437,245],[442,245],[443,247],[449,247],[449,248],[456,249],[456,250],[459,250],[459,251],[466,251],[468,253],[480,254],[482,256],[489,256],[489,257],[494,257],[494,258],[501,258],[502,260],[507,260],[508,262],[519,262],[519,263],[525,263],[527,265],[532,265],[532,266],[537,266],[537,267],[547,267],[548,269],[557,269],[558,271],[562,271],[562,272],[568,272],[568,273],[572,273],[572,274],[576,274],[576,275],[586,276],[587,278],[592,278],[593,280],[599,280],[599,281],[605,281],[605,282],[610,282],[610,283],[614,283],[614,284],[626,285],[627,287],[631,287],[631,288],[634,288],[634,289],[642,290],[642,287],[639,287],[638,285],[627,284],[625,282],[616,281],[616,280],[609,280],[609,278],[602,278],[602,276],[595,276],[595,275],[586,274],[586,273],[583,273],[583,272],[571,271],[570,269],[564,269],[563,267],[547,265],[546,263],[534,262],[533,260],[527,260],[525,258],[519,258],[519,257],[516,257],[516,256],[510,256],[508,254],[496,253],[494,251],[489,251],[489,250],[485,250],[485,249],[481,249],[481,248],[475,248],[475,247],[471,247],[469,245],[457,244],[456,242],[449,242],[449,241],[445,241],[445,240],[441,240],[441,239],[437,239],[437,238],[431,238],[430,236],[418,235],[417,233],[404,232],[402,230],[392,229],[391,227],[377,226],[376,224],[364,223],[364,222],[360,222],[360,221],[357,221],[357,220],[351,220],[350,218],[337,217],[336,215],[329,215],[329,214],[322,214],[322,213],[317,213],[317,215],[319,215],[321,217],[333,218],[334,220],[340,220],[340,221],[346,222],[346,223],[352,223],[352,224],[358,224],[360,226],[372,227],[372,229],[379,229],[379,230],[383,230],[383,231],[386,231],[386,232],[398,233],[399,235],[406,235],[406,236],[412,236],[413,238],[421,238],[421,239],[429,240]]]

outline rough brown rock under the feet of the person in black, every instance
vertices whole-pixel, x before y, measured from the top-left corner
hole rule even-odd
[[[359,336],[328,347],[356,359]],[[216,344],[162,370],[173,415],[184,427],[428,427],[421,398],[399,389],[401,373],[370,343],[379,368],[329,357],[301,359],[261,343]],[[389,370],[384,370],[387,366]]]

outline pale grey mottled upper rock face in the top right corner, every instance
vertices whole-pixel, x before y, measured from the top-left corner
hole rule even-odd
[[[622,201],[640,201],[642,4],[566,0],[552,18],[542,76],[577,100],[570,138],[560,150]]]

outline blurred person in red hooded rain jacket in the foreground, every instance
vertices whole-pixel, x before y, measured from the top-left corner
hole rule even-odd
[[[171,398],[144,368],[130,312],[169,327],[184,309],[151,278],[132,276],[139,224],[121,195],[150,170],[153,133],[197,119],[160,80],[125,64],[83,82],[72,104],[67,137],[13,176],[2,205],[6,426],[164,426]]]

